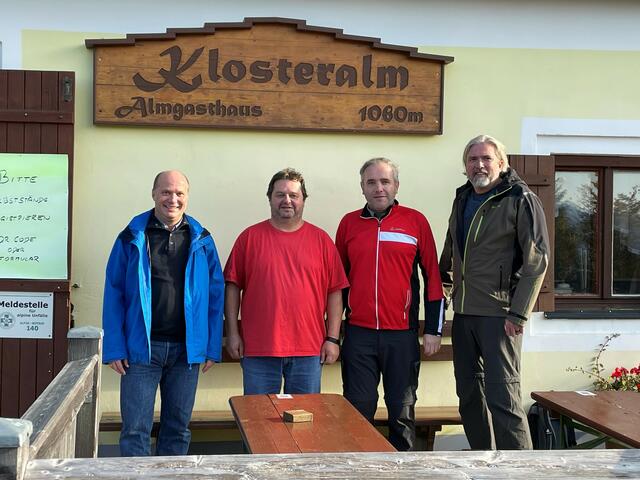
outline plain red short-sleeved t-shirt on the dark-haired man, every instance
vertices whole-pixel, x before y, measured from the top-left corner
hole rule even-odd
[[[224,278],[242,290],[248,357],[320,355],[327,295],[349,286],[333,241],[308,222],[295,232],[268,220],[247,228],[231,250]]]

